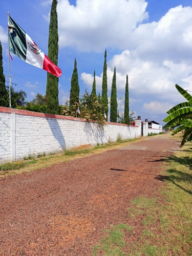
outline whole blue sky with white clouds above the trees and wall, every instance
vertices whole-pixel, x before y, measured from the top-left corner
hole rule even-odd
[[[7,12],[48,54],[49,13],[52,1],[0,1],[0,39],[4,74],[8,77]],[[192,91],[191,0],[59,0],[57,5],[59,103],[69,99],[74,59],[77,60],[80,95],[101,93],[104,50],[107,51],[108,97],[114,67],[119,112],[124,111],[126,74],[129,76],[130,110],[135,116],[163,124],[166,111],[185,101],[178,83]],[[45,95],[47,72],[12,56],[15,90],[27,92],[27,101]],[[120,102],[120,97],[123,100]],[[121,108],[120,108],[121,105]]]

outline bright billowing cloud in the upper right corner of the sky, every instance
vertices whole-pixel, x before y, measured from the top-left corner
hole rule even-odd
[[[190,61],[192,50],[192,8],[171,8],[158,23],[141,24],[131,36],[142,59]]]

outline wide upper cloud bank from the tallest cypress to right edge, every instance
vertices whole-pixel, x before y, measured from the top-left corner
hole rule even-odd
[[[141,24],[148,17],[146,6],[144,0],[77,0],[74,7],[68,0],[60,0],[59,45],[79,51],[137,49],[146,59],[154,59],[158,53],[161,58],[178,60],[184,55],[189,59],[192,8],[180,5],[171,8],[158,23]]]

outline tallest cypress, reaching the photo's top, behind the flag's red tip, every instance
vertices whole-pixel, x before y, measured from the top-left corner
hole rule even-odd
[[[50,13],[48,57],[57,66],[58,62],[58,22],[57,0],[53,0]],[[59,114],[58,77],[47,73],[47,111],[50,114]]]

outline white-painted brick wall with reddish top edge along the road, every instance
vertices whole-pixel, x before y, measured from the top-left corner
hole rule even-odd
[[[80,145],[104,144],[141,136],[136,126],[107,122],[103,127],[85,119],[0,107],[0,163],[60,152]]]

